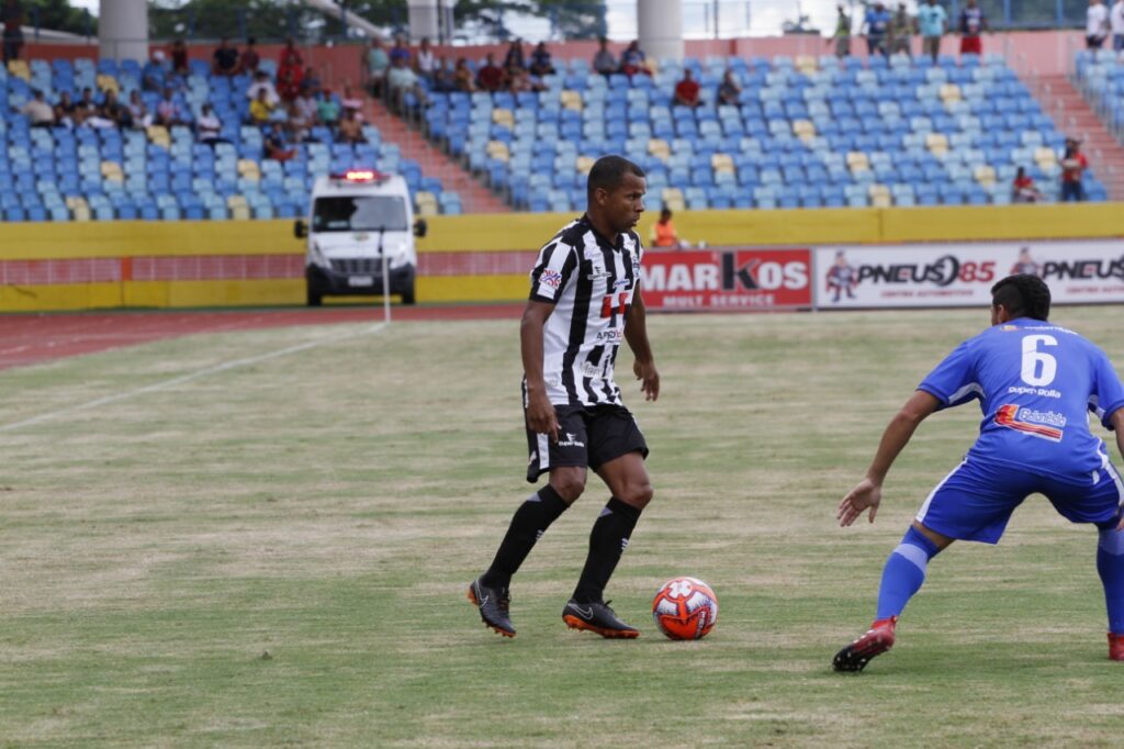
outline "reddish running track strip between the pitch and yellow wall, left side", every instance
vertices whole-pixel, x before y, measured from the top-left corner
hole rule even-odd
[[[517,318],[520,305],[395,307],[396,321]],[[193,333],[381,322],[382,307],[0,315],[0,369]]]

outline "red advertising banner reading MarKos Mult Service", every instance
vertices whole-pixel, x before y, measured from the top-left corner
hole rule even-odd
[[[769,310],[812,307],[810,250],[677,250],[644,253],[649,309]]]

